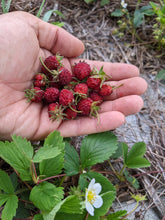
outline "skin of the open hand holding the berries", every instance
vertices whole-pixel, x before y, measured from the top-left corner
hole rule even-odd
[[[10,140],[20,135],[29,140],[42,140],[58,130],[63,137],[79,136],[115,129],[125,122],[125,116],[143,107],[140,97],[147,83],[139,77],[137,67],[101,61],[87,62],[104,71],[112,79],[106,83],[123,86],[106,97],[96,118],[50,121],[47,106],[27,102],[24,90],[30,88],[34,75],[40,71],[39,57],[44,60],[56,53],[64,56],[63,63],[71,66],[79,61],[83,43],[64,29],[48,24],[26,12],[0,15],[0,139]]]

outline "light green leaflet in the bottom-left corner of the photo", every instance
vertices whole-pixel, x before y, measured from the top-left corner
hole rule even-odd
[[[8,196],[8,200],[5,204],[5,207],[2,211],[1,219],[2,220],[12,220],[16,214],[16,209],[18,207],[18,198],[16,195]]]

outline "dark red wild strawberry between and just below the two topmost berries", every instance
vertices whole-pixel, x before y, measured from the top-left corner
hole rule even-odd
[[[62,86],[68,85],[72,79],[72,75],[70,73],[70,71],[65,68],[65,67],[61,67],[59,69],[59,83]]]

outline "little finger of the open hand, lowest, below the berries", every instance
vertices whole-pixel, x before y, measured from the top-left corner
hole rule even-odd
[[[104,112],[98,118],[82,117],[69,120],[58,128],[63,137],[80,136],[113,130],[125,122],[125,117],[117,111]]]

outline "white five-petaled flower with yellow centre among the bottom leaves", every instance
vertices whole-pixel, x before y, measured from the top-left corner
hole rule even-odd
[[[100,208],[103,205],[103,199],[98,195],[101,188],[100,183],[95,183],[95,179],[92,179],[85,193],[86,210],[92,216],[94,216],[94,208]]]

